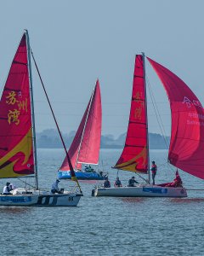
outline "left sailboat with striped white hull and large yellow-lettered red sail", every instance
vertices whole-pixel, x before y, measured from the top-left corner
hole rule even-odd
[[[77,206],[82,193],[52,194],[38,185],[31,48],[24,32],[14,55],[0,102],[0,178],[35,177],[33,189],[0,195],[0,206]],[[73,173],[74,177],[74,173]]]

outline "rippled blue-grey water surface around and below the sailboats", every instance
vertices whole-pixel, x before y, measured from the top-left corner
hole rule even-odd
[[[116,178],[111,166],[120,153],[106,149],[100,154],[111,183]],[[173,180],[167,151],[150,154],[158,166],[156,182]],[[60,149],[38,150],[42,188],[50,188],[63,158]],[[200,179],[180,174],[186,188],[204,189]],[[132,174],[119,176],[125,185]],[[0,255],[204,255],[204,191],[189,191],[186,199],[95,198],[94,184],[81,184],[78,207],[0,207]]]

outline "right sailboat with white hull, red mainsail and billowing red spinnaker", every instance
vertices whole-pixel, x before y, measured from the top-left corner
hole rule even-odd
[[[168,162],[195,177],[204,179],[204,110],[195,94],[183,80],[166,67],[151,60],[163,84],[172,114],[171,141]],[[136,55],[133,74],[133,94],[122,155],[114,168],[148,175],[145,184],[136,187],[96,188],[95,196],[186,197],[184,187],[163,187],[150,184],[148,120],[145,87],[144,54]]]

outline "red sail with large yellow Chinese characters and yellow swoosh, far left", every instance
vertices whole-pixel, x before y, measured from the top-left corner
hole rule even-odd
[[[0,102],[0,177],[34,173],[26,34],[8,73]]]

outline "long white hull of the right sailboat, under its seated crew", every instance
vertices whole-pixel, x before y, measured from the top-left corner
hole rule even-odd
[[[94,196],[117,197],[187,197],[186,189],[160,187],[156,185],[140,185],[137,187],[96,188]]]

